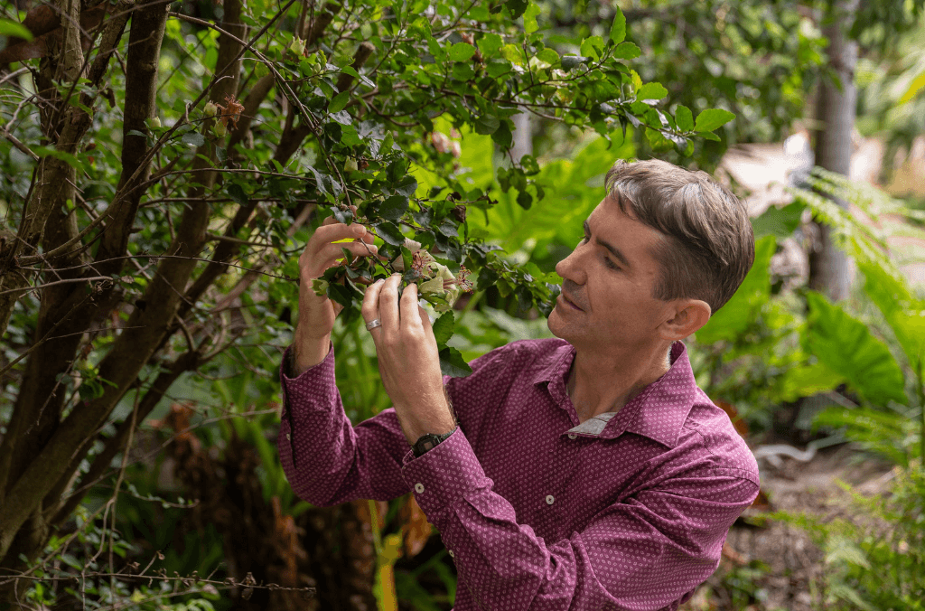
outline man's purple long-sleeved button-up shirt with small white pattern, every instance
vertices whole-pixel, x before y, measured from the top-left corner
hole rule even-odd
[[[332,345],[299,377],[280,371],[292,489],[320,506],[413,491],[456,563],[454,611],[676,609],[758,495],[755,457],[697,388],[684,343],[623,409],[580,424],[574,355],[522,340],[444,377],[459,428],[415,458],[394,408],[351,424]]]

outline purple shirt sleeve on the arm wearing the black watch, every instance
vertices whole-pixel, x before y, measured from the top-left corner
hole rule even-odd
[[[547,542],[492,491],[462,430],[403,463],[460,587],[485,609],[675,609],[719,565],[729,527],[758,494],[728,469],[688,469]]]

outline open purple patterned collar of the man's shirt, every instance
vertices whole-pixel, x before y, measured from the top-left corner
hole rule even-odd
[[[549,394],[558,405],[564,405],[568,396],[566,377],[574,356],[574,346],[562,341],[562,345],[544,359],[545,362],[536,369],[533,377],[534,384],[549,383]],[[697,381],[683,342],[672,344],[671,362],[665,375],[623,405],[618,413],[599,415],[598,422],[592,423],[595,426],[590,428],[585,427],[590,422],[588,420],[577,432],[593,435],[594,430],[597,430],[598,437],[612,439],[628,431],[673,448],[678,443],[681,429],[694,405]]]

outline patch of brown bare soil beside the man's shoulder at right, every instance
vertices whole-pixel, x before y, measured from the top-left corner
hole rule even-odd
[[[893,466],[851,444],[820,451],[808,462],[782,457],[779,466],[759,463],[761,490],[771,511],[850,517],[845,481],[857,492],[889,489]],[[763,508],[767,511],[767,507]],[[684,611],[815,611],[826,608],[824,557],[808,534],[779,520],[760,519],[762,508],[746,510],[727,538],[721,567]],[[754,526],[752,524],[760,524]]]

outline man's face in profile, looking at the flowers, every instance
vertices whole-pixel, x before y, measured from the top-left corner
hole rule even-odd
[[[660,323],[672,318],[671,303],[652,297],[660,278],[652,253],[664,234],[624,214],[609,197],[587,218],[586,229],[590,233],[556,265],[562,293],[549,313],[549,330],[604,354],[658,341]]]

